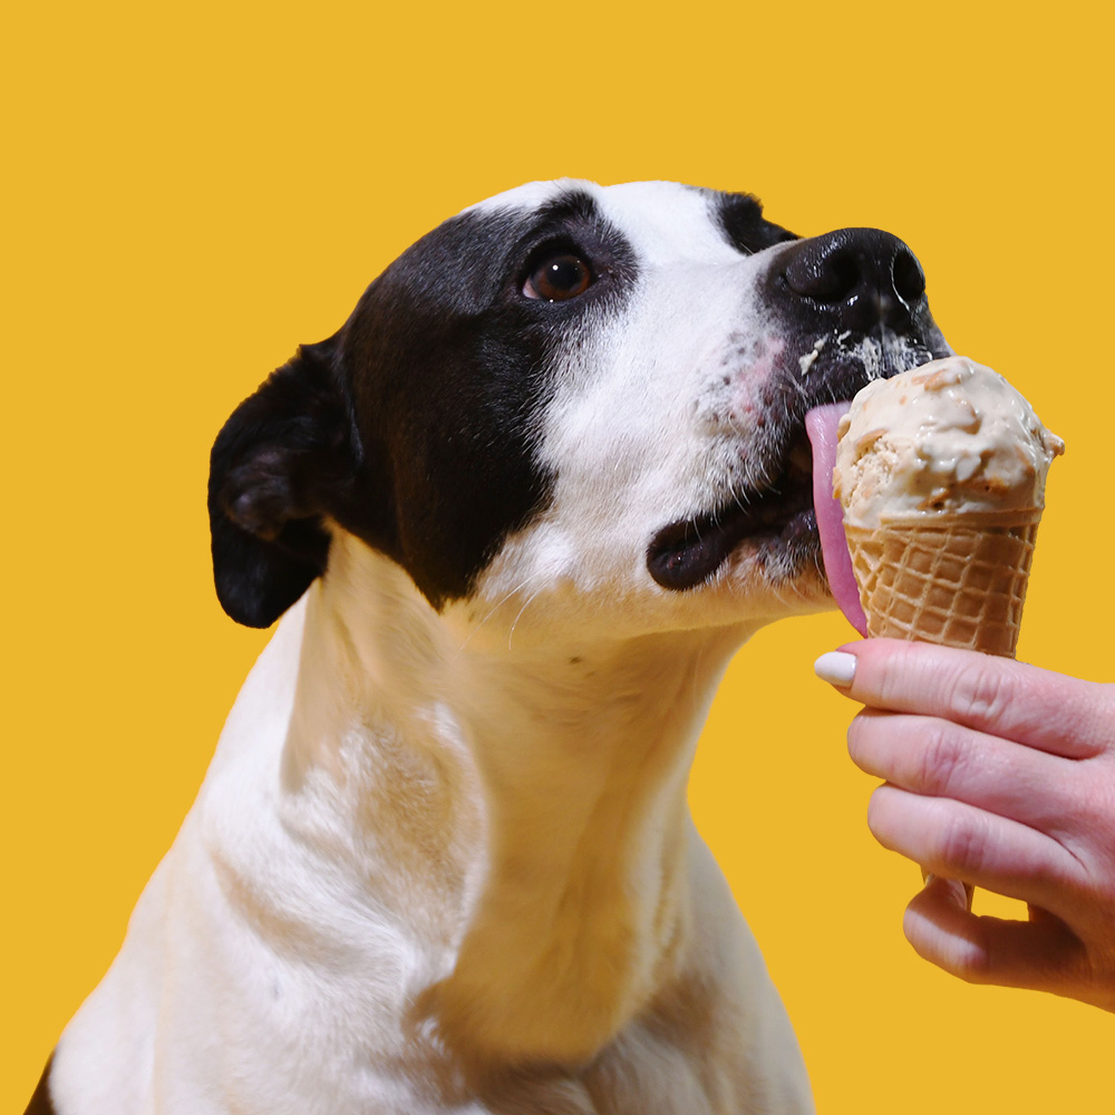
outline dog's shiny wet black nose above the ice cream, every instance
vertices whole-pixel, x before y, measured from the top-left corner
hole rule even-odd
[[[867,333],[882,323],[901,331],[925,297],[913,252],[879,229],[840,229],[799,241],[780,263],[789,290],[841,329]]]

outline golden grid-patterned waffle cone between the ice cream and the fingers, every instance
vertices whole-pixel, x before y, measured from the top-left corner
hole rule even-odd
[[[1040,517],[845,523],[867,634],[1014,658]]]

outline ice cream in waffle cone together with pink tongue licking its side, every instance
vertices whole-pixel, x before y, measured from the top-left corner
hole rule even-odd
[[[823,427],[836,409],[807,421],[815,467],[826,442],[831,457]],[[1014,658],[1046,474],[1064,448],[1001,376],[962,357],[864,388],[836,428],[841,510],[816,501],[830,583],[853,624]],[[862,617],[846,599],[849,559]]]

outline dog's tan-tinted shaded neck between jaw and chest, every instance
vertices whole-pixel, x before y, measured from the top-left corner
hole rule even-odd
[[[345,855],[434,958],[413,1016],[446,1045],[590,1057],[685,962],[687,777],[749,632],[516,648],[345,535],[307,608],[288,824],[341,814]]]

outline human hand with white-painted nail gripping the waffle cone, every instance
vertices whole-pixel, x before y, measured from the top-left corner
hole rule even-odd
[[[915,951],[1115,1011],[1115,685],[893,639],[816,669],[866,706],[847,739],[885,779],[871,832],[937,876],[906,908]],[[971,913],[951,880],[1020,899],[1029,920]]]

